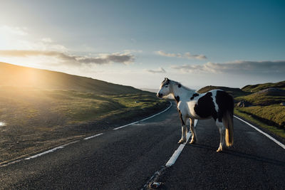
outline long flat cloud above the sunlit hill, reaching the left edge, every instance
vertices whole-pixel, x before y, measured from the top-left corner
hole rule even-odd
[[[111,53],[101,54],[95,57],[86,56],[71,56],[67,53],[58,51],[29,51],[29,50],[0,50],[0,56],[3,57],[32,57],[32,56],[48,56],[57,58],[58,60],[65,62],[66,64],[108,64],[108,63],[133,63],[135,56],[130,53]]]

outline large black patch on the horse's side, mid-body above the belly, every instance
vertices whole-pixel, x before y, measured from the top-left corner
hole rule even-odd
[[[214,117],[214,120],[217,120],[217,112],[214,109],[212,93],[207,93],[200,97],[194,107],[194,110],[199,117],[207,118],[212,116]]]

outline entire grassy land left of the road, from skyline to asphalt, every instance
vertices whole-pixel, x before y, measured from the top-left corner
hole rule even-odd
[[[130,86],[0,63],[0,165],[140,120],[167,103]]]

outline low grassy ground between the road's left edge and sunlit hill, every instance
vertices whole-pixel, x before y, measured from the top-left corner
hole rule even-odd
[[[167,107],[152,93],[0,88],[0,163],[140,120]]]

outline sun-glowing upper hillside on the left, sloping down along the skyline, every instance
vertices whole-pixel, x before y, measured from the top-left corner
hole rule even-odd
[[[50,70],[27,68],[0,62],[0,86],[29,87],[45,90],[76,90],[105,95],[142,93],[130,86],[69,75]]]

